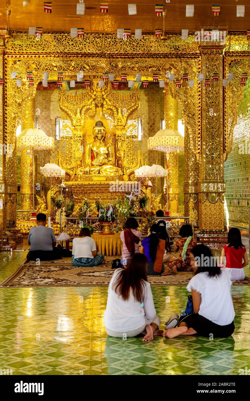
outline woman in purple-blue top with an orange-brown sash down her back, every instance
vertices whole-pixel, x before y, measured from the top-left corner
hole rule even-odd
[[[142,240],[142,245],[140,247],[140,253],[144,253],[148,258],[148,275],[165,275],[167,273],[168,269],[163,265],[165,250],[167,253],[170,252],[170,243],[167,231],[164,229],[163,235],[163,230],[161,230],[159,225],[153,224],[150,227],[148,237]]]

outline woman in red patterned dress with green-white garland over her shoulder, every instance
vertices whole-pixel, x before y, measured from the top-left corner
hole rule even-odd
[[[181,238],[175,241],[174,252],[180,251],[179,257],[173,262],[169,262],[169,268],[177,271],[191,271],[189,252],[197,244],[193,239],[193,229],[190,224],[183,224],[180,228],[179,234]]]

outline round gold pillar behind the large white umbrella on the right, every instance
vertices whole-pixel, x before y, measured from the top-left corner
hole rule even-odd
[[[165,128],[178,131],[178,101],[173,99],[169,88],[165,87],[164,93],[164,117]],[[179,168],[178,168],[178,153],[170,152],[169,160],[165,154],[165,168],[169,165],[169,176],[165,177],[164,185],[164,204],[170,215],[179,211]],[[167,181],[168,181],[168,196],[167,196]],[[168,199],[167,199],[168,197]]]

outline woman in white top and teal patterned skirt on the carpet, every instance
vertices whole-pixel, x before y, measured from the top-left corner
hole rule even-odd
[[[72,263],[73,266],[97,266],[105,263],[102,253],[97,253],[96,243],[91,238],[88,228],[82,228],[79,237],[73,239]]]

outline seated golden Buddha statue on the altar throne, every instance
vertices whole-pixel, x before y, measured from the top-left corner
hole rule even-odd
[[[114,145],[105,141],[106,128],[102,121],[96,122],[93,137],[94,141],[86,146],[86,167],[78,168],[77,175],[122,175],[122,170],[115,166]]]

